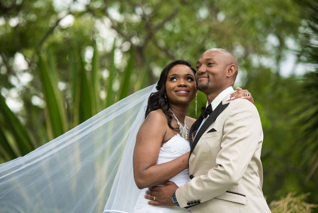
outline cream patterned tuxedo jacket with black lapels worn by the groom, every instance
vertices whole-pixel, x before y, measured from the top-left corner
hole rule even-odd
[[[176,190],[181,207],[193,213],[270,212],[262,192],[263,130],[248,100],[225,99],[190,129],[190,181]]]

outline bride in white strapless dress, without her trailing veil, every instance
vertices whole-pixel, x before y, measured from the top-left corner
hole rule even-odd
[[[189,181],[187,125],[191,127],[195,119],[187,117],[186,112],[197,94],[195,72],[188,62],[169,63],[159,78],[158,91],[149,97],[146,119],[138,131],[133,155],[138,188],[147,189],[167,180],[182,186]],[[190,211],[177,206],[150,206],[144,198],[146,189],[140,193],[134,212]]]

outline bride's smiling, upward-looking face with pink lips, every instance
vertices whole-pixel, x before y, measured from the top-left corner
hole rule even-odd
[[[189,104],[197,92],[194,73],[183,64],[177,64],[169,70],[165,86],[168,100],[173,104]]]

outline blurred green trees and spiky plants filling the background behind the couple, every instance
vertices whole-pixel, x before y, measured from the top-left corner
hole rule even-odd
[[[236,86],[261,116],[268,203],[289,192],[317,203],[317,8],[313,0],[0,0],[0,163],[156,83],[172,60],[195,65],[218,47],[237,56]],[[283,75],[288,54],[312,71],[295,75],[295,65]]]

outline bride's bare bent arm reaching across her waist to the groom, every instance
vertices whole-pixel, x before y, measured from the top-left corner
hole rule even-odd
[[[167,126],[165,115],[160,111],[152,111],[138,131],[133,168],[135,183],[140,189],[161,184],[188,167],[189,152],[156,165]]]

